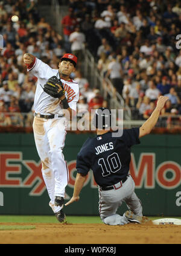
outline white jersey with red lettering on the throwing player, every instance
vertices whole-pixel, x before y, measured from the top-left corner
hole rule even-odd
[[[61,100],[46,94],[42,88],[47,80],[53,75],[60,78],[59,69],[50,68],[50,66],[36,58],[33,67],[27,70],[38,78],[34,97],[35,112],[42,115],[63,114]],[[63,83],[63,88],[65,89],[65,97],[68,100],[69,107],[76,111],[79,97],[78,83],[74,80],[66,81],[61,79],[61,81]]]

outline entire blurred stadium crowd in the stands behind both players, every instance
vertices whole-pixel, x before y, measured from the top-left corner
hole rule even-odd
[[[100,75],[112,81],[131,107],[133,118],[150,117],[159,95],[170,98],[162,112],[167,124],[174,115],[181,115],[181,50],[176,47],[176,36],[181,34],[180,1],[70,0],[68,5],[61,21],[63,34],[59,34],[40,16],[36,0],[0,2],[0,34],[4,37],[0,112],[6,113],[0,125],[13,124],[12,112],[27,113],[25,119],[17,115],[19,125],[30,124],[36,77],[26,72],[24,53],[52,68],[58,68],[65,52],[76,54],[79,65],[72,78],[80,84],[78,110],[107,106],[99,88],[90,89],[81,74],[85,47],[94,54]],[[14,14],[18,22],[11,21]]]

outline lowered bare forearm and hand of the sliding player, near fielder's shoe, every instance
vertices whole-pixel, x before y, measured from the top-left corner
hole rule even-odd
[[[77,202],[79,200],[79,194],[81,189],[83,188],[84,182],[86,181],[86,175],[83,175],[81,173],[77,173],[76,179],[75,179],[75,185],[74,185],[74,194],[72,198],[65,203],[65,206]]]

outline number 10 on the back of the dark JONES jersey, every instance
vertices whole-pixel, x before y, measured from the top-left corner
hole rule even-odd
[[[98,165],[101,166],[103,177],[106,177],[111,173],[116,173],[116,171],[121,169],[121,162],[118,153],[112,153],[107,156],[107,159],[98,159]]]

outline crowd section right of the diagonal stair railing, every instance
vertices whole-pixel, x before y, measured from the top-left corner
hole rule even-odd
[[[162,119],[166,117],[170,125],[174,115],[181,115],[181,44],[176,40],[181,34],[181,2],[69,2],[69,13],[62,20],[66,41],[78,27],[100,74],[111,80],[132,109],[133,119],[150,117],[157,97],[167,95],[170,100]],[[180,117],[176,118],[180,125]]]

